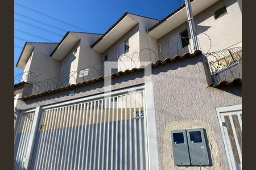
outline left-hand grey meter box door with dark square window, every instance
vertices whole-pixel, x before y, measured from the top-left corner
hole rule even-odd
[[[172,150],[175,165],[191,165],[189,159],[187,134],[185,130],[172,130]]]

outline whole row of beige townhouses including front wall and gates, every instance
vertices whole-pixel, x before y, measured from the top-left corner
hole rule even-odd
[[[241,169],[241,1],[191,5],[197,51],[184,5],[27,42],[15,169]]]

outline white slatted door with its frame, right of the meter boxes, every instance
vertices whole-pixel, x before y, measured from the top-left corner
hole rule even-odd
[[[217,108],[230,169],[242,169],[242,107]]]

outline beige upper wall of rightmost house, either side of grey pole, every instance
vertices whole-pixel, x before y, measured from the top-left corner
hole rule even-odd
[[[224,5],[228,13],[218,19],[214,19],[213,12]],[[236,0],[221,0],[194,16],[194,20],[196,32],[199,33],[197,37],[203,53],[216,52],[242,42],[242,14]],[[185,52],[193,51],[190,39],[189,46],[180,49],[178,52],[171,52],[170,37],[185,28],[188,29],[189,33],[188,23],[185,22],[158,39],[158,53],[159,55],[160,52],[162,53],[159,58],[174,57],[176,54],[183,55]],[[161,46],[161,49],[159,46]]]

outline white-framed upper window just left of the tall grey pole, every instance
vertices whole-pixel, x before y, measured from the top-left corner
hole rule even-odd
[[[189,45],[188,30],[185,29],[182,32],[176,33],[170,37],[171,52],[176,52],[181,48]]]

